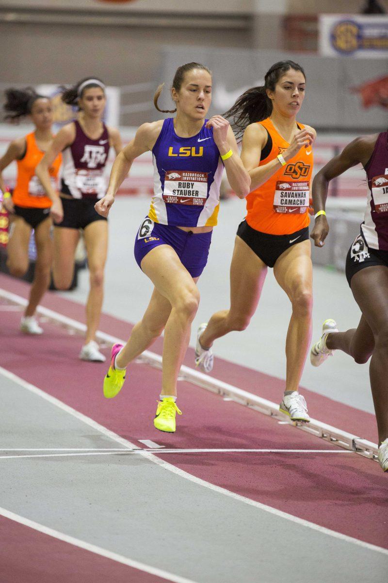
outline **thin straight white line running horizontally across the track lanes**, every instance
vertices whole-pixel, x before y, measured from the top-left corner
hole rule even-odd
[[[159,446],[160,447],[160,446]],[[153,454],[355,454],[347,449],[111,449],[109,451],[77,452],[66,454],[0,455],[0,459],[63,458],[86,455],[127,455],[151,451]]]

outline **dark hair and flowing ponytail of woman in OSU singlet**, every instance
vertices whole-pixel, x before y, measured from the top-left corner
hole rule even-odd
[[[272,101],[267,95],[267,89],[275,91],[276,83],[287,71],[293,69],[300,71],[304,78],[305,72],[300,65],[294,61],[279,61],[272,65],[265,74],[264,85],[252,87],[243,93],[236,103],[226,111],[224,117],[232,120],[232,125],[236,131],[236,138],[241,138],[245,128],[255,121],[265,120],[272,113]]]

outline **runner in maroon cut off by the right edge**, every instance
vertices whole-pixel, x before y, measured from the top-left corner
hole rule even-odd
[[[342,350],[369,366],[379,432],[379,462],[388,471],[388,131],[362,136],[318,172],[312,183],[316,222],[311,237],[322,247],[329,233],[325,203],[329,181],[361,163],[368,181],[368,200],[361,233],[346,259],[346,277],[362,316],[358,327],[339,332],[334,320],[323,324],[323,335],[311,349],[311,363],[322,364]]]

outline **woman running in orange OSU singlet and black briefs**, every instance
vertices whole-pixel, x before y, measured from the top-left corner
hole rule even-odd
[[[286,340],[286,387],[280,410],[309,422],[299,382],[311,339],[312,264],[309,190],[315,130],[296,121],[305,74],[293,61],[273,65],[265,85],[245,92],[225,114],[244,132],[241,160],[251,177],[247,216],[237,230],[230,267],[230,309],[213,314],[198,329],[195,363],[213,367],[211,346],[233,330],[247,328],[268,267],[286,292],[292,315]],[[244,131],[245,130],[245,131]]]

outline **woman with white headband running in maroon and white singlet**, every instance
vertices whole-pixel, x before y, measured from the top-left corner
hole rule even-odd
[[[104,168],[109,148],[122,149],[117,129],[102,121],[106,98],[101,79],[87,78],[62,93],[62,101],[77,105],[77,120],[65,125],[38,165],[36,174],[52,200],[54,219],[54,283],[68,289],[73,280],[74,254],[83,229],[90,270],[90,293],[86,304],[86,340],[80,359],[104,361],[95,342],[104,297],[104,267],[108,249],[108,225],[98,215],[95,203],[105,195]],[[59,195],[48,180],[48,168],[59,152],[63,154],[63,174]]]

